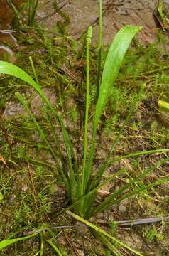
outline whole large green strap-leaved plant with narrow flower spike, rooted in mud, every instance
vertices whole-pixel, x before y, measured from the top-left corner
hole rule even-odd
[[[97,100],[97,105],[96,105],[95,114],[94,114],[91,142],[89,142],[88,119],[89,119],[89,44],[92,38],[92,27],[90,27],[88,30],[88,33],[87,33],[87,92],[86,92],[86,112],[85,112],[85,124],[84,124],[84,156],[83,156],[82,166],[79,166],[78,164],[77,156],[75,154],[75,150],[73,149],[70,136],[64,125],[62,115],[57,114],[55,112],[55,109],[50,104],[43,90],[41,90],[40,88],[40,84],[38,82],[36,70],[34,68],[32,60],[30,59],[33,73],[36,78],[36,82],[28,75],[28,73],[24,72],[21,68],[18,68],[16,65],[13,65],[11,63],[6,63],[3,61],[0,62],[1,74],[13,75],[16,78],[20,78],[21,80],[27,82],[29,85],[31,85],[31,87],[33,87],[36,90],[36,92],[38,92],[38,94],[43,100],[43,103],[45,106],[45,114],[47,115],[47,120],[51,127],[51,133],[53,134],[53,137],[54,137],[55,147],[53,146],[52,143],[50,143],[50,140],[48,139],[48,137],[46,137],[45,132],[43,132],[43,129],[40,127],[40,124],[38,124],[36,118],[34,117],[31,110],[29,109],[26,101],[23,99],[23,96],[19,92],[16,93],[18,100],[20,100],[20,102],[23,104],[23,107],[25,107],[26,111],[32,117],[33,122],[36,124],[36,128],[38,129],[40,137],[45,142],[46,146],[48,147],[48,150],[53,156],[53,159],[55,159],[56,163],[59,166],[60,174],[62,174],[62,179],[65,182],[67,195],[69,197],[70,204],[71,204],[69,208],[73,208],[75,213],[80,215],[80,217],[78,217],[75,214],[73,215],[70,212],[67,212],[67,213],[72,215],[72,217],[79,219],[80,221],[83,220],[83,222],[87,223],[87,225],[89,225],[90,228],[94,228],[94,230],[96,230],[99,233],[102,233],[102,235],[106,235],[106,234],[103,231],[101,231],[101,229],[96,228],[92,224],[89,224],[89,222],[87,222],[87,220],[84,220],[84,218],[89,219],[93,215],[96,215],[97,213],[101,212],[102,210],[106,210],[113,204],[119,203],[124,198],[128,198],[129,196],[133,196],[138,193],[141,193],[142,191],[145,191],[148,188],[152,188],[153,186],[158,186],[160,183],[168,181],[169,179],[169,178],[163,178],[159,181],[150,183],[148,185],[143,185],[143,183],[141,183],[140,186],[134,187],[135,183],[141,180],[141,178],[144,178],[145,176],[147,176],[151,171],[156,169],[157,166],[160,166],[163,163],[165,163],[165,161],[168,161],[168,158],[167,158],[163,161],[160,161],[156,166],[149,168],[138,177],[131,179],[129,183],[119,188],[118,191],[115,191],[111,196],[107,197],[98,206],[94,206],[95,198],[97,197],[97,191],[99,190],[99,188],[102,188],[102,186],[112,181],[116,176],[124,174],[124,170],[122,169],[121,171],[118,171],[116,174],[109,176],[109,178],[107,178],[106,181],[102,182],[102,176],[104,174],[104,171],[109,166],[114,164],[116,161],[121,161],[121,159],[131,158],[133,156],[135,157],[141,156],[143,154],[154,154],[156,152],[163,153],[163,152],[169,151],[169,149],[141,151],[141,152],[135,152],[133,154],[128,154],[125,156],[120,156],[119,158],[116,158],[113,160],[111,159],[111,153],[114,151],[116,144],[119,142],[119,138],[124,130],[126,123],[129,121],[129,118],[131,117],[133,110],[135,110],[136,104],[138,103],[139,100],[141,100],[141,97],[143,95],[143,89],[144,89],[144,87],[141,87],[140,92],[138,92],[138,95],[136,95],[135,99],[133,100],[133,103],[131,104],[131,108],[129,110],[129,113],[126,116],[126,119],[124,120],[124,123],[121,126],[121,129],[119,129],[119,134],[114,140],[114,143],[110,149],[110,153],[107,156],[107,159],[105,159],[104,164],[102,164],[102,166],[99,167],[97,174],[93,173],[94,151],[96,150],[97,127],[99,125],[99,120],[102,116],[102,112],[104,110],[104,107],[111,93],[111,89],[114,85],[114,80],[116,79],[119,73],[119,69],[124,59],[126,50],[129,47],[129,43],[131,42],[131,39],[133,38],[133,36],[140,29],[141,29],[140,27],[133,27],[133,26],[126,26],[122,28],[121,31],[119,31],[119,33],[116,34],[116,37],[114,38],[114,42],[112,43],[109,49],[107,60],[104,64],[102,82],[99,87],[99,97]],[[50,114],[53,114],[53,117],[55,117],[55,119],[60,124],[60,128],[62,129],[62,138],[65,144],[67,161],[65,161],[64,152],[61,151],[60,141],[58,139],[58,135],[55,133],[53,123],[51,122],[51,119],[50,119]],[[89,145],[90,145],[90,149],[88,150]],[[89,151],[89,154],[87,154],[88,151]],[[129,188],[131,188],[131,186],[134,187],[133,191],[128,191]],[[126,193],[124,194],[124,192]],[[112,238],[110,235],[106,235],[106,236],[116,241],[116,239]],[[15,240],[15,242],[16,241],[17,240]],[[106,244],[109,241],[105,240],[104,238],[104,242]],[[118,242],[118,240],[116,242]],[[51,242],[49,243],[51,245]],[[5,245],[8,245],[8,244],[5,243]],[[127,247],[121,242],[119,242],[119,245],[122,245],[129,249],[129,247]],[[112,250],[115,250],[115,248],[113,248]],[[133,250],[131,251],[133,252]],[[138,252],[135,252],[135,253],[137,255],[141,255]]]

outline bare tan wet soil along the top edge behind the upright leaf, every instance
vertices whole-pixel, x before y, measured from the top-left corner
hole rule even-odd
[[[82,33],[91,25],[94,26],[94,43],[98,38],[98,9],[97,0],[58,1],[60,9],[70,18],[68,26],[70,36],[79,39]],[[49,4],[49,1],[47,1]],[[52,1],[51,10],[52,10]],[[143,43],[156,41],[156,23],[153,11],[158,6],[158,0],[104,0],[103,1],[103,43],[109,45],[114,34],[124,25],[143,26],[144,35],[140,36]],[[48,9],[49,11],[49,9]],[[39,15],[45,16],[45,1],[39,8]],[[55,14],[46,21],[49,28],[55,26]]]

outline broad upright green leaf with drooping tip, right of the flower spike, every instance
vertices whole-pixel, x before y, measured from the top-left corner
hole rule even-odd
[[[119,73],[119,69],[123,62],[124,55],[126,54],[126,50],[129,48],[129,44],[131,43],[133,36],[135,36],[136,33],[140,30],[141,27],[138,26],[125,26],[124,28],[121,28],[121,30],[116,34],[114,41],[109,48],[109,53],[104,64],[102,82],[99,87],[99,98],[97,100],[96,112],[94,115],[92,145],[89,151],[89,161],[87,164],[87,171],[84,182],[86,187],[92,172],[92,161],[94,157],[95,139],[97,136],[97,125],[99,124],[99,119],[101,117],[104,106],[107,103],[109,95],[111,94],[111,89]]]

